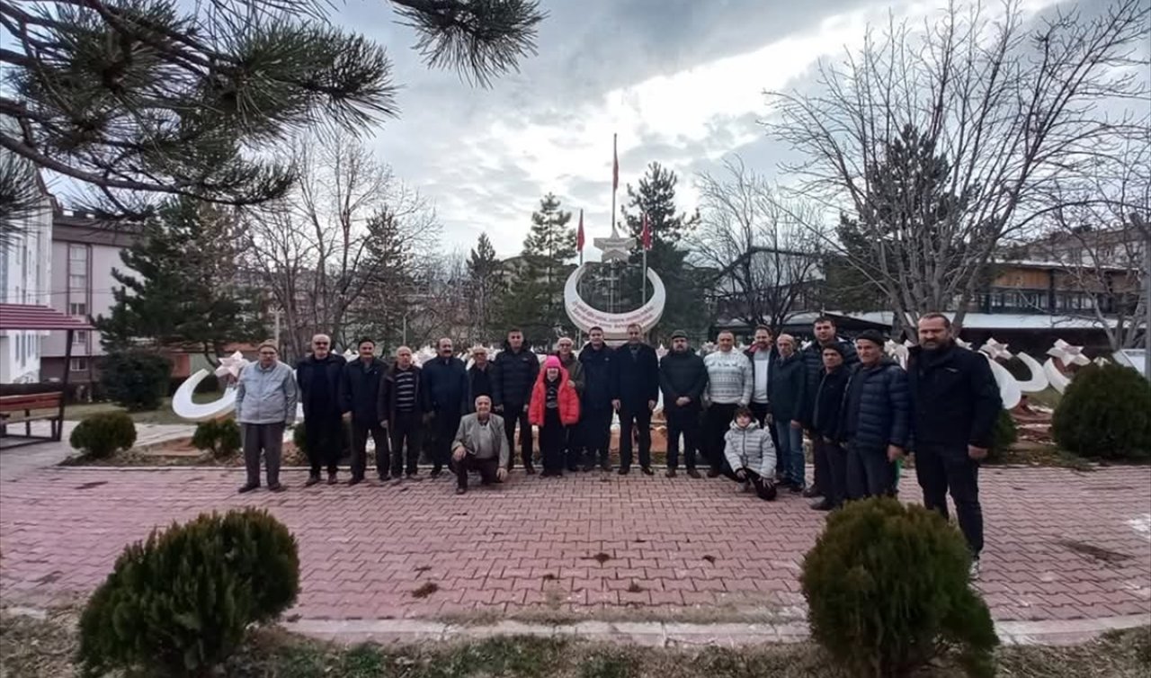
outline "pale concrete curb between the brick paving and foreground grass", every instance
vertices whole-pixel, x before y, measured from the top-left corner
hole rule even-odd
[[[1151,614],[1061,622],[996,622],[1004,645],[1074,645],[1112,630],[1151,624]],[[677,622],[579,622],[529,624],[504,620],[487,625],[460,625],[422,619],[298,619],[282,623],[285,630],[337,642],[412,643],[475,640],[495,635],[536,635],[618,642],[645,647],[738,647],[765,642],[807,640],[803,622],[783,624],[686,624]]]

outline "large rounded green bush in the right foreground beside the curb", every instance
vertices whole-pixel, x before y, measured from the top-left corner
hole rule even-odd
[[[907,676],[942,652],[991,676],[999,640],[969,566],[963,536],[935,511],[849,502],[803,558],[811,635],[851,676]]]

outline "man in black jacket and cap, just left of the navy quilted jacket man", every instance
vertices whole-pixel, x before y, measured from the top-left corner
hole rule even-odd
[[[839,444],[839,411],[848,378],[843,344],[832,342],[824,346],[823,379],[811,399],[811,418],[805,422],[811,432],[813,451],[823,455],[830,466],[823,500],[811,505],[817,511],[838,509],[847,497],[847,451]]]

